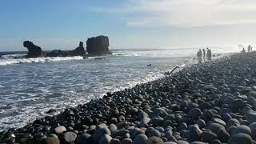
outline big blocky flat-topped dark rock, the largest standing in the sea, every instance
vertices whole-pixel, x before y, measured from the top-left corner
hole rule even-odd
[[[88,38],[86,45],[86,50],[89,56],[110,54],[110,42],[109,38],[106,36],[101,35],[95,38]]]

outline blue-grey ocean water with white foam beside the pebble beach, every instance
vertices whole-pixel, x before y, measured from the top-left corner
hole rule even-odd
[[[211,48],[219,58],[240,51]],[[24,58],[25,54],[0,57],[0,130],[22,127],[42,118],[50,109],[58,114],[106,92],[124,90],[164,77],[174,66],[198,63],[198,48],[112,50],[100,58]],[[151,66],[148,66],[150,65]]]

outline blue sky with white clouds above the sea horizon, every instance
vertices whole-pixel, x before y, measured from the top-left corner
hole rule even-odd
[[[255,0],[0,0],[0,51],[72,50],[106,35],[110,49],[256,44]]]

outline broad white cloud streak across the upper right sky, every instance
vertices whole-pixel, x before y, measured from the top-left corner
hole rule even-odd
[[[127,0],[94,9],[118,14],[128,26],[219,26],[256,23],[255,0]]]

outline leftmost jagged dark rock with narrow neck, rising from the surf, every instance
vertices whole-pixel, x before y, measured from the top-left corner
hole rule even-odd
[[[29,50],[29,52],[26,55],[26,58],[38,58],[38,57],[44,57],[45,54],[43,54],[41,47],[35,46],[33,42],[25,41],[23,42],[23,46]]]

